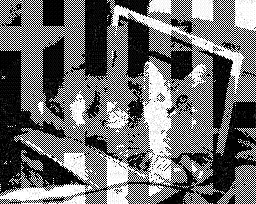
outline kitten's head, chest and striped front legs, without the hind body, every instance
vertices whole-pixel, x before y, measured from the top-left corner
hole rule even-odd
[[[200,120],[204,93],[211,86],[206,81],[207,72],[204,65],[199,65],[184,80],[167,80],[151,62],[146,62],[143,110],[137,121],[119,134],[113,145],[116,157],[169,182],[187,182],[191,167],[184,167],[184,161],[194,165],[189,154],[204,135]],[[183,161],[183,166],[178,161]]]

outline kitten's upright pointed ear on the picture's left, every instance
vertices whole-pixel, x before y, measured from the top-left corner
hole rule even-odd
[[[144,65],[144,80],[154,82],[155,80],[164,79],[158,68],[152,62],[146,62]]]

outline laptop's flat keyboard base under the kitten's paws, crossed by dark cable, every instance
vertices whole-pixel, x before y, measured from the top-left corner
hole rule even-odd
[[[157,175],[131,168],[94,147],[68,138],[38,131],[18,137],[20,142],[39,154],[99,188],[132,181],[164,183]],[[156,185],[130,184],[113,188],[112,192],[132,203],[155,203],[179,191]]]

